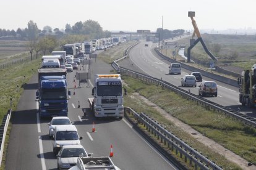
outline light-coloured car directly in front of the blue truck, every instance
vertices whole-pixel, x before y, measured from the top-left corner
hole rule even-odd
[[[69,117],[67,116],[56,116],[51,119],[48,123],[49,125],[49,137],[53,137],[54,129],[56,126],[67,125],[67,124],[74,124],[71,123]]]

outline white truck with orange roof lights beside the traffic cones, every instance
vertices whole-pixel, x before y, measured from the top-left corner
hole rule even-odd
[[[124,116],[124,98],[120,74],[95,75],[93,98],[88,98],[90,109],[96,118]]]

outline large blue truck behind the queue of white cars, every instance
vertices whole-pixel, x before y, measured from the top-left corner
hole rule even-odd
[[[40,118],[67,116],[66,76],[66,71],[61,68],[38,69],[36,100],[38,100]]]

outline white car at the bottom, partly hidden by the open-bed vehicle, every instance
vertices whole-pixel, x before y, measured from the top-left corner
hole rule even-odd
[[[82,145],[64,145],[57,155],[58,169],[69,169],[77,164],[77,158],[87,157]]]

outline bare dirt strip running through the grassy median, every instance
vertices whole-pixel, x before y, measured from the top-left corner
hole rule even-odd
[[[166,119],[169,119],[172,123],[174,123],[177,127],[181,128],[183,131],[186,131],[189,133],[192,137],[197,139],[199,142],[201,142],[203,145],[207,146],[208,148],[211,148],[212,150],[215,150],[216,152],[223,155],[227,160],[232,161],[233,163],[238,164],[241,166],[242,169],[256,169],[255,165],[248,166],[248,161],[244,160],[244,158],[241,158],[241,156],[236,155],[235,153],[231,152],[230,150],[224,148],[220,144],[216,143],[214,140],[209,139],[208,137],[203,136],[200,134],[200,132],[195,131],[192,127],[189,125],[182,123],[182,121],[179,121],[179,119],[175,118],[174,116],[167,113],[162,108],[158,107],[155,103],[150,102],[150,100],[146,99],[139,93],[134,93],[134,97],[137,97],[143,102],[147,103],[148,105],[151,105],[153,108],[155,108],[157,111],[159,111]]]

